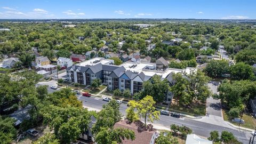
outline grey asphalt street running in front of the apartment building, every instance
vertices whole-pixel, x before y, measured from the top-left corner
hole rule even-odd
[[[77,95],[77,97],[78,97],[78,100],[81,100],[83,102],[84,107],[92,108],[94,110],[102,109],[102,105],[107,103],[106,101],[103,101],[101,98],[98,98],[98,97],[87,98],[87,97],[83,97],[82,95]],[[119,110],[123,115],[125,115],[126,108],[127,108],[127,105],[125,103],[122,103],[120,105]],[[185,117],[174,118],[171,116],[161,115],[160,119],[158,121],[155,121],[154,123],[163,125],[165,127],[170,127],[171,124],[186,125],[193,130],[193,133],[205,138],[209,137],[210,132],[214,130],[219,131],[219,133],[221,133],[222,131],[232,132],[235,135],[235,137],[238,138],[238,140],[243,143],[248,143],[250,137],[252,136],[250,135],[249,132],[230,129],[228,127],[223,127],[223,126],[209,124],[209,123],[203,123],[203,122],[195,121],[193,119],[189,119]]]

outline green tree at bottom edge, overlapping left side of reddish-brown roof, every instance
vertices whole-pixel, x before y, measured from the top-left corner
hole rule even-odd
[[[118,127],[116,129],[103,128],[95,136],[95,141],[99,144],[122,143],[122,140],[134,140],[135,133],[132,130]]]

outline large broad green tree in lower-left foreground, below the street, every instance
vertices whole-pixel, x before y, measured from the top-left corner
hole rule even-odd
[[[44,124],[49,124],[61,143],[70,143],[76,140],[81,133],[87,130],[90,115],[86,109],[49,106],[42,112]]]

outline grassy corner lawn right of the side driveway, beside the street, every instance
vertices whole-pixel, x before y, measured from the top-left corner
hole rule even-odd
[[[223,109],[222,114],[223,114],[223,118],[224,118],[225,121],[228,121],[228,122],[230,122],[234,125],[237,125],[237,126],[239,125],[238,123],[232,122],[233,117],[228,115],[228,110]],[[245,124],[240,124],[240,126],[246,127],[246,128],[249,128],[249,129],[255,129],[255,125],[256,125],[256,119],[255,118],[253,118],[251,115],[243,114],[242,119],[244,119]]]

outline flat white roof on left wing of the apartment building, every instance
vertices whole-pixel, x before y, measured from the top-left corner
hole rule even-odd
[[[98,63],[101,63],[103,65],[107,65],[107,64],[109,64],[113,61],[114,60],[108,60],[108,59],[97,57],[97,58],[93,58],[93,59],[90,59],[90,60],[80,62],[80,63],[76,64],[76,66],[83,66],[83,67],[86,67],[86,65],[94,66],[94,65],[97,65]]]

